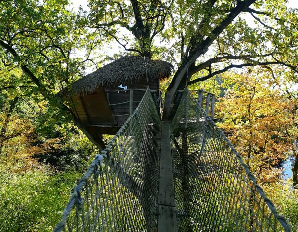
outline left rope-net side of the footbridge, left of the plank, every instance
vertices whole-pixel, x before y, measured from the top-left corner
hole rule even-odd
[[[54,231],[154,231],[161,121],[147,89],[74,188]]]

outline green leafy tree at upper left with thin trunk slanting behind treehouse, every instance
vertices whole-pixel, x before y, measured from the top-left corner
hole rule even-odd
[[[32,97],[37,101],[48,101],[53,111],[50,116],[59,120],[66,116],[65,113],[70,115],[69,108],[57,99],[55,93],[76,80],[86,62],[92,62],[88,56],[86,59],[71,57],[77,48],[91,53],[93,45],[86,44],[85,40],[92,37],[92,33],[85,34],[86,29],[68,10],[68,1],[14,0],[1,1],[0,5],[3,9],[0,13],[1,61],[9,70],[20,68],[26,74],[22,83],[6,81],[2,89],[30,83]],[[100,45],[99,39],[92,41]],[[74,123],[100,146],[84,125],[75,119]]]

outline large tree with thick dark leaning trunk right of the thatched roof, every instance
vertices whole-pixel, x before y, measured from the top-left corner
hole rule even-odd
[[[152,57],[180,54],[165,97],[163,117],[169,119],[176,91],[186,82],[191,85],[231,68],[257,65],[281,65],[289,67],[292,75],[298,73],[293,51],[298,45],[297,9],[287,9],[285,2],[112,0],[99,4],[92,0],[88,16],[90,27],[115,39],[127,51]],[[257,26],[250,27],[244,15]],[[154,45],[156,40],[170,46]],[[212,53],[206,55],[208,50]],[[235,60],[243,63],[233,64]],[[209,73],[198,77],[202,70]]]

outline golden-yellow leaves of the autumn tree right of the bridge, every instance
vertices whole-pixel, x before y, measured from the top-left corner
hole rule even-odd
[[[271,88],[265,78],[256,76],[223,76],[222,86],[227,91],[217,105],[217,115],[223,120],[219,126],[247,158],[251,171],[271,182],[279,177],[280,171],[274,167],[286,158],[293,137],[298,135],[294,126],[297,116],[291,110],[293,101]]]

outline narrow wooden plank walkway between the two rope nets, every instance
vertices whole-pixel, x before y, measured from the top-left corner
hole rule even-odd
[[[178,231],[169,122],[162,122],[157,230]]]

